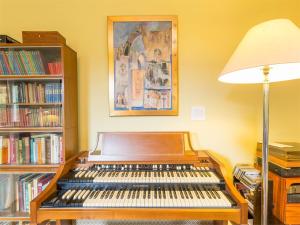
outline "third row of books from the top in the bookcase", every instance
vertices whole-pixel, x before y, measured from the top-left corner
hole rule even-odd
[[[61,107],[0,107],[0,127],[60,127]]]

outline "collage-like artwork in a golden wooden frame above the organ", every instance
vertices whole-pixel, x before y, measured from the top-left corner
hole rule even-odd
[[[178,114],[177,17],[108,17],[111,116]]]

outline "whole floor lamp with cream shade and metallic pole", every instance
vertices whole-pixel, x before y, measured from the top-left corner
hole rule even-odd
[[[262,217],[268,220],[269,83],[300,78],[300,29],[288,19],[251,28],[225,65],[219,81],[263,84]]]

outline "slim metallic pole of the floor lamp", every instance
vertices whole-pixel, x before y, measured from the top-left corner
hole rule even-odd
[[[263,151],[262,151],[262,178],[263,178],[263,189],[262,189],[262,214],[261,224],[268,225],[268,155],[269,155],[269,73],[270,67],[264,66],[264,102],[263,102]]]

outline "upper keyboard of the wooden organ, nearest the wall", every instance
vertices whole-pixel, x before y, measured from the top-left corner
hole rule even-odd
[[[85,183],[221,183],[214,170],[190,164],[94,165],[77,168],[61,182]]]

